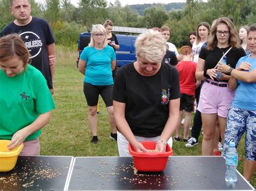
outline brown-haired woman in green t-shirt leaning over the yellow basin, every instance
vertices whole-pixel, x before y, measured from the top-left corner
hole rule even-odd
[[[38,137],[55,104],[29,56],[18,34],[0,38],[0,139],[11,140],[9,150],[24,142],[21,155],[39,155]]]

